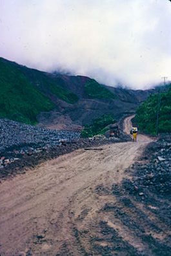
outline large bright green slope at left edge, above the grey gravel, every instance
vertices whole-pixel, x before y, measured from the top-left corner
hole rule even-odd
[[[13,65],[0,59],[0,117],[34,124],[37,114],[54,104]]]

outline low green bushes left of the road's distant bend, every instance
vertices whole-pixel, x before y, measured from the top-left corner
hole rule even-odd
[[[100,118],[96,118],[91,125],[85,125],[85,128],[81,131],[81,137],[88,138],[97,134],[105,134],[106,131],[108,131],[106,126],[112,123],[116,123],[116,120],[110,114],[105,114]]]

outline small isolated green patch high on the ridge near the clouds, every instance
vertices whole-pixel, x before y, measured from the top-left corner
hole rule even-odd
[[[110,92],[108,89],[106,89],[103,85],[100,85],[95,80],[90,80],[85,84],[85,92],[86,95],[90,98],[96,98],[96,99],[114,99],[116,96]]]

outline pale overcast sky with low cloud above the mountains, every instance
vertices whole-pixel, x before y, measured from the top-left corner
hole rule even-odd
[[[0,0],[0,56],[106,85],[149,88],[171,76],[171,3]]]

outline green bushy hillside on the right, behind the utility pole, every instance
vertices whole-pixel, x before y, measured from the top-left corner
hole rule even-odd
[[[167,92],[161,92],[161,104],[159,108],[159,133],[171,132],[171,86]],[[136,112],[136,123],[139,130],[149,134],[156,134],[157,109],[159,106],[159,94],[151,95]]]

